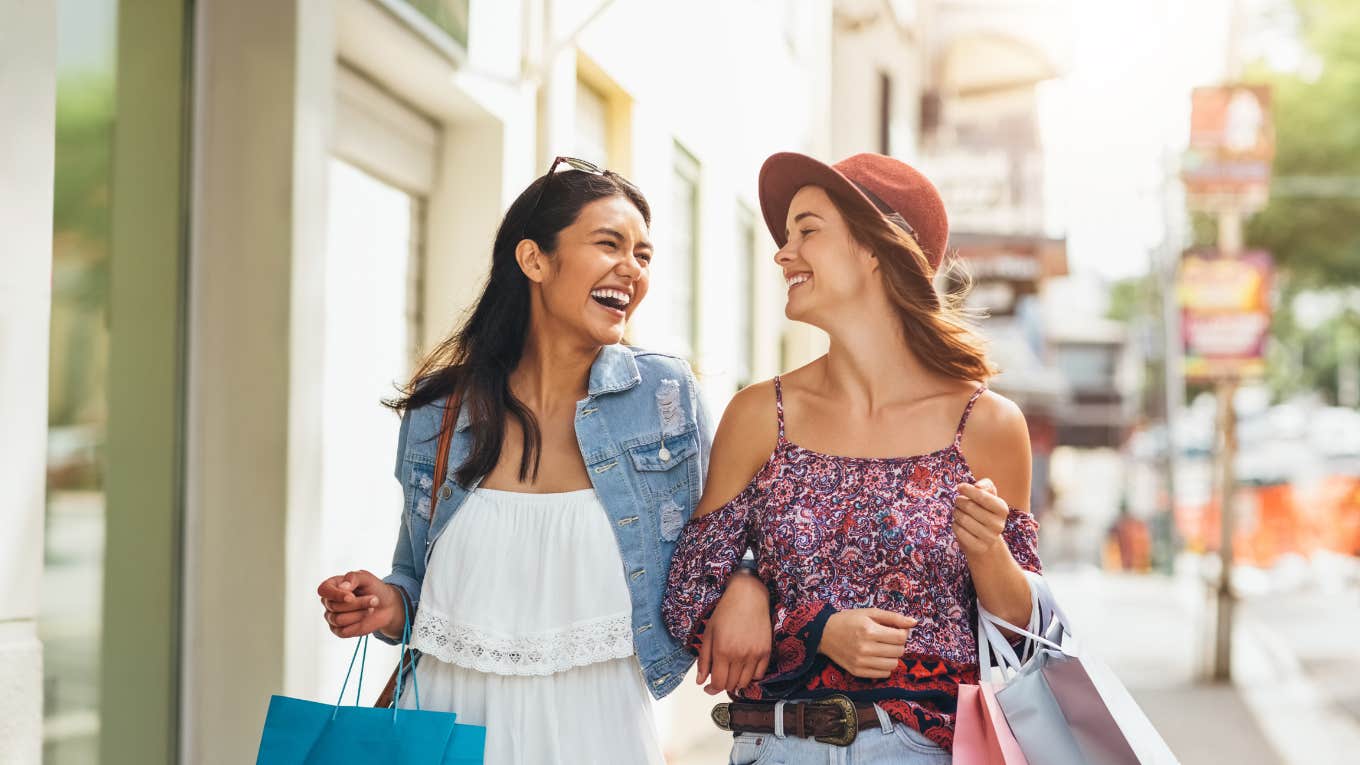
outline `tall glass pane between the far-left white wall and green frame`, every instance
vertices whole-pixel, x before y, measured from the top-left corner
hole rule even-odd
[[[44,762],[97,762],[117,1],[61,0],[53,199]]]

